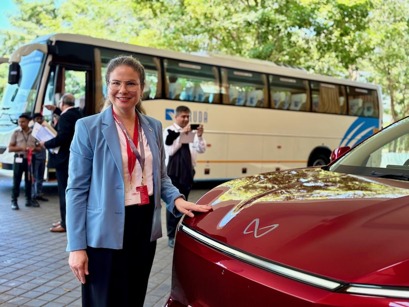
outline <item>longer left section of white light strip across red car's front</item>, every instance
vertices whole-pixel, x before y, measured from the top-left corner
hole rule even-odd
[[[192,238],[198,240],[199,242],[217,250],[218,252],[236,258],[240,261],[246,262],[247,264],[256,266],[260,269],[276,273],[294,280],[298,280],[304,283],[311,284],[312,286],[324,288],[330,291],[336,291],[340,287],[344,287],[345,283],[340,283],[335,280],[326,279],[323,277],[307,274],[301,271],[290,269],[283,265],[275,264],[273,262],[264,260],[260,257],[247,254],[240,250],[234,249],[230,246],[224,245],[208,236],[199,233],[196,230],[189,228],[184,224],[180,224],[179,230],[186,233]]]

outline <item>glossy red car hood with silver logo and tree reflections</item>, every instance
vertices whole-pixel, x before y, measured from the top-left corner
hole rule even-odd
[[[184,223],[235,249],[348,282],[409,286],[409,183],[321,168],[226,182]]]

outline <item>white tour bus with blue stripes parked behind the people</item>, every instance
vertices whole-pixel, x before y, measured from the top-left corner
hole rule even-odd
[[[179,53],[76,34],[42,36],[17,49],[0,105],[1,168],[22,113],[42,113],[71,92],[85,116],[101,111],[107,62],[132,55],[146,70],[142,105],[163,127],[186,105],[207,141],[196,181],[325,165],[331,151],[354,146],[381,127],[377,85],[310,74],[273,62],[215,53]]]

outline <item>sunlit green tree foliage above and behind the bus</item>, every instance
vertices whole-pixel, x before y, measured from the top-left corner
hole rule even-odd
[[[409,115],[405,0],[14,0],[2,56],[39,35],[90,35],[210,51],[380,84],[393,120]],[[3,84],[0,84],[0,87]]]

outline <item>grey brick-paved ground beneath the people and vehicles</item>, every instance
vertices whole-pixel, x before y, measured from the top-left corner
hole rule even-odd
[[[68,265],[65,233],[51,233],[60,220],[56,184],[44,186],[48,202],[40,208],[25,207],[21,188],[20,210],[11,210],[12,181],[0,174],[0,306],[81,306],[81,284]],[[194,189],[189,200],[197,201],[208,189]],[[166,237],[157,240],[144,307],[163,306],[170,293],[173,249]]]

